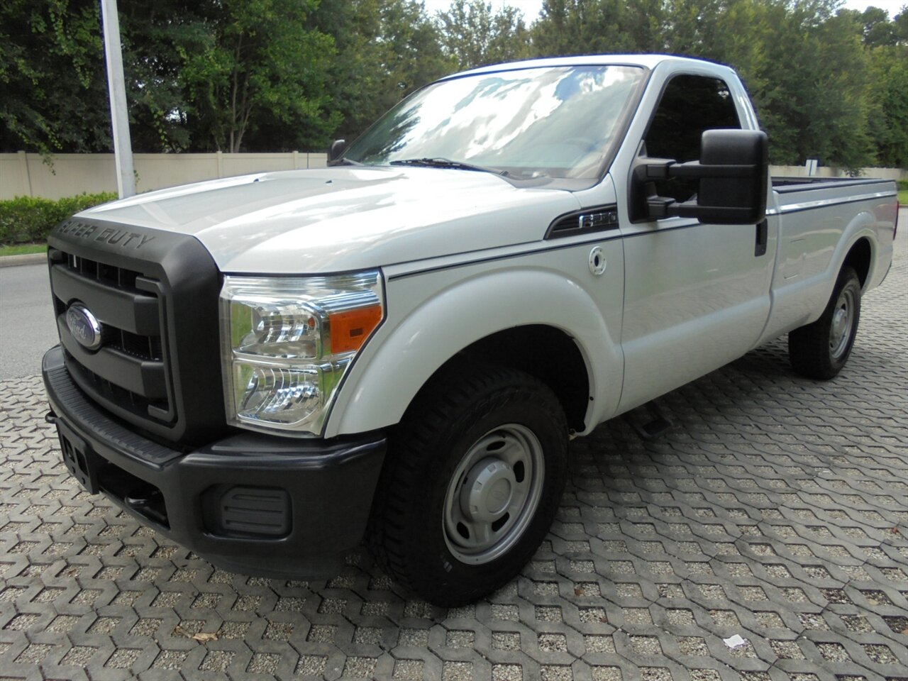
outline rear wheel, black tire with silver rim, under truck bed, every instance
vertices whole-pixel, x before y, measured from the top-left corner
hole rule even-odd
[[[834,378],[851,355],[860,320],[861,281],[845,266],[820,319],[788,334],[792,367],[808,379]]]

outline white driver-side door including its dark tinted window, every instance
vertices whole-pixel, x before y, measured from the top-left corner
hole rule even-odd
[[[704,130],[740,127],[724,81],[679,74],[667,82],[639,151],[696,161]],[[696,184],[658,181],[656,191],[686,201]],[[625,378],[619,410],[624,411],[753,347],[769,315],[772,262],[765,246],[761,252],[754,225],[645,219],[623,225],[621,232]]]

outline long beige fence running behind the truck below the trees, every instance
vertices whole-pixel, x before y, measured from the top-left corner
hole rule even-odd
[[[244,173],[324,168],[324,153],[136,153],[136,189],[172,187]],[[803,165],[774,166],[774,175],[804,176]],[[816,175],[840,177],[844,171],[821,167]],[[864,177],[908,180],[898,168],[865,168]],[[38,153],[0,153],[0,200],[15,196],[59,199],[82,192],[116,192],[113,153],[58,153],[46,163]]]

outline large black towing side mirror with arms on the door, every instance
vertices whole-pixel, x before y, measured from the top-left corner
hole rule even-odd
[[[699,181],[695,201],[658,196],[655,180],[685,177]],[[706,130],[700,160],[640,157],[631,171],[631,222],[669,217],[714,224],[756,224],[766,212],[769,142],[758,130]]]

